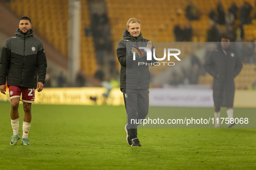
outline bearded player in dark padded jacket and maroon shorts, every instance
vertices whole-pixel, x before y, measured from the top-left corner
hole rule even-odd
[[[23,16],[15,36],[8,38],[0,58],[0,92],[6,92],[6,77],[11,101],[13,135],[10,145],[16,145],[19,136],[19,98],[22,94],[24,119],[22,145],[30,145],[28,133],[31,122],[31,104],[35,88],[40,92],[45,83],[46,57],[42,42],[34,38],[31,19]],[[37,78],[38,77],[38,78]],[[38,82],[37,82],[38,81]]]

